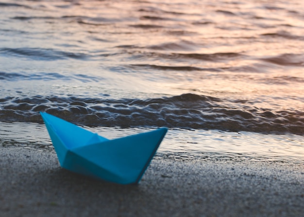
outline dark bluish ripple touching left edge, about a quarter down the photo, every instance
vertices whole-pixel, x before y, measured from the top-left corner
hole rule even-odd
[[[84,53],[65,52],[51,48],[47,49],[47,48],[31,48],[31,47],[0,48],[0,54],[31,58],[34,60],[46,60],[46,61],[64,60],[68,58],[85,60],[88,57],[88,55]]]

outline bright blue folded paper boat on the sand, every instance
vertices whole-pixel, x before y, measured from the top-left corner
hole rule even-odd
[[[136,184],[167,133],[159,128],[108,140],[60,118],[40,112],[61,167],[118,184]]]

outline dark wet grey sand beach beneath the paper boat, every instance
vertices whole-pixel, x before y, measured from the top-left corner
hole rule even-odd
[[[0,147],[0,204],[0,217],[300,217],[304,166],[156,156],[120,186],[61,169],[53,151]]]

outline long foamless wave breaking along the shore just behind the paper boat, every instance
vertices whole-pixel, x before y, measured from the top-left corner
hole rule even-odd
[[[75,124],[304,134],[304,112],[186,93],[148,99],[41,96],[0,99],[0,121],[42,123],[39,111]]]

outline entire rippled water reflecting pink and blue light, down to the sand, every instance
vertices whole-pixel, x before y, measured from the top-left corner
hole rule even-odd
[[[46,111],[157,155],[304,163],[304,1],[0,0],[0,143]]]

